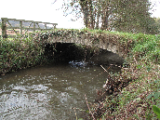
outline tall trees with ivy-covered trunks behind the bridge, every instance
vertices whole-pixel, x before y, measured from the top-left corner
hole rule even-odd
[[[90,29],[150,34],[158,29],[150,17],[149,0],[63,0],[62,8],[65,15],[83,17],[85,27]]]

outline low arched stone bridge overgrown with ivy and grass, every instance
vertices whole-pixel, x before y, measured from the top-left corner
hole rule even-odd
[[[128,52],[128,44],[122,43],[122,36],[109,33],[92,33],[90,31],[80,30],[54,30],[52,32],[37,34],[35,39],[41,39],[45,43],[75,43],[94,48],[102,48],[107,51],[123,56]]]

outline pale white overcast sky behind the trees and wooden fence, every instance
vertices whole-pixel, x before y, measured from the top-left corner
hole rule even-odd
[[[61,8],[63,0],[0,0],[0,18],[15,18],[58,23],[57,28],[84,28],[82,18],[71,21],[72,15],[64,16]],[[154,4],[153,17],[160,18],[160,0],[150,0]]]

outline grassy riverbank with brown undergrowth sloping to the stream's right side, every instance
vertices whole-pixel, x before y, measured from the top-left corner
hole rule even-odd
[[[104,101],[92,104],[91,119],[152,119],[157,115],[153,105],[160,108],[160,36],[127,34],[134,43],[128,57],[129,68],[121,69],[120,75],[113,75]],[[119,86],[113,87],[112,81]],[[127,84],[126,86],[123,86]],[[115,84],[115,82],[114,82]],[[110,92],[112,91],[112,92]]]

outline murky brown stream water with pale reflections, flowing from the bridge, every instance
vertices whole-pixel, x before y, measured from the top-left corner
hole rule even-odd
[[[107,74],[83,62],[56,63],[0,77],[0,120],[84,118]]]

